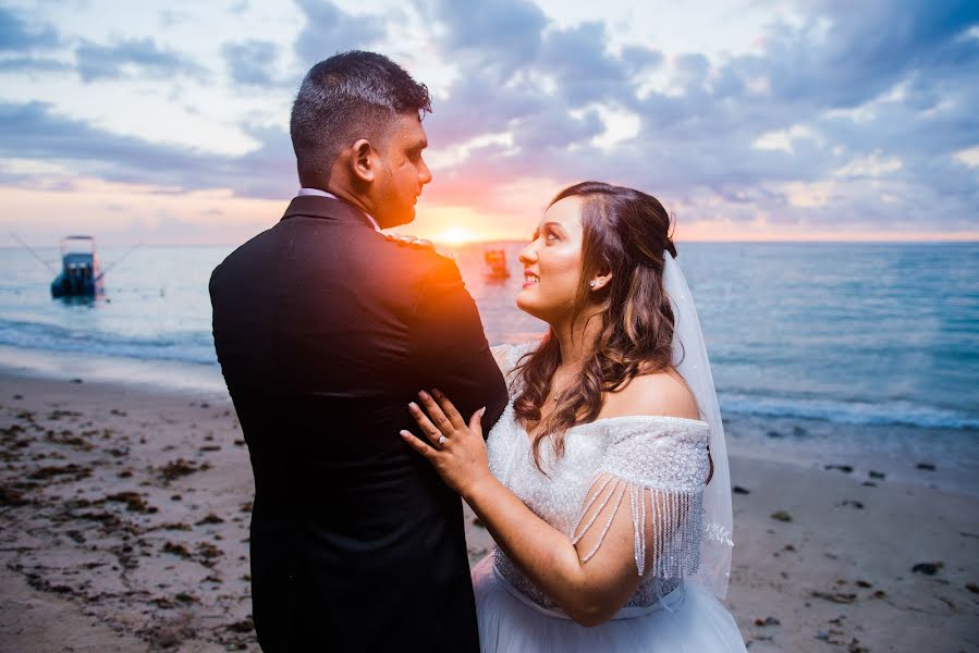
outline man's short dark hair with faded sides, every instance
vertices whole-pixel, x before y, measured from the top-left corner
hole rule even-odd
[[[383,147],[402,113],[431,112],[424,84],[376,52],[351,50],[306,73],[289,124],[301,183],[326,184],[336,156],[358,138]]]

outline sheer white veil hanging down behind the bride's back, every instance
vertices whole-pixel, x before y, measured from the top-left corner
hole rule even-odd
[[[713,476],[703,490],[703,533],[700,539],[700,566],[693,580],[712,591],[719,599],[727,593],[731,576],[731,471],[727,467],[727,446],[724,424],[714,390],[707,347],[697,319],[697,308],[690,288],[676,261],[663,252],[663,287],[673,304],[673,365],[683,377],[700,408],[700,416],[710,427],[710,456]]]

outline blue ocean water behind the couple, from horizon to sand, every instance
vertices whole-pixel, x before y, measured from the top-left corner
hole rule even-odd
[[[490,344],[544,332],[484,245],[449,249]],[[207,281],[232,247],[106,247],[106,294],[51,299],[53,274],[0,250],[0,365],[220,391]],[[942,468],[979,493],[979,243],[681,243],[732,451],[901,476]],[[57,264],[56,248],[36,249]],[[146,380],[144,379],[144,380]],[[938,477],[937,477],[938,478]],[[974,488],[975,485],[975,488]]]

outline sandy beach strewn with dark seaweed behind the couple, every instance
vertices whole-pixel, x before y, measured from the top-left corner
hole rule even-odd
[[[8,370],[0,456],[0,652],[258,650],[227,397]],[[979,651],[979,498],[929,486],[940,467],[731,465],[750,651]]]

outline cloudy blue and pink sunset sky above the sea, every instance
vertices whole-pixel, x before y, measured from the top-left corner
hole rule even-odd
[[[432,90],[419,235],[525,237],[597,178],[681,239],[979,238],[975,0],[3,1],[0,226],[249,237],[303,74],[352,48]]]

